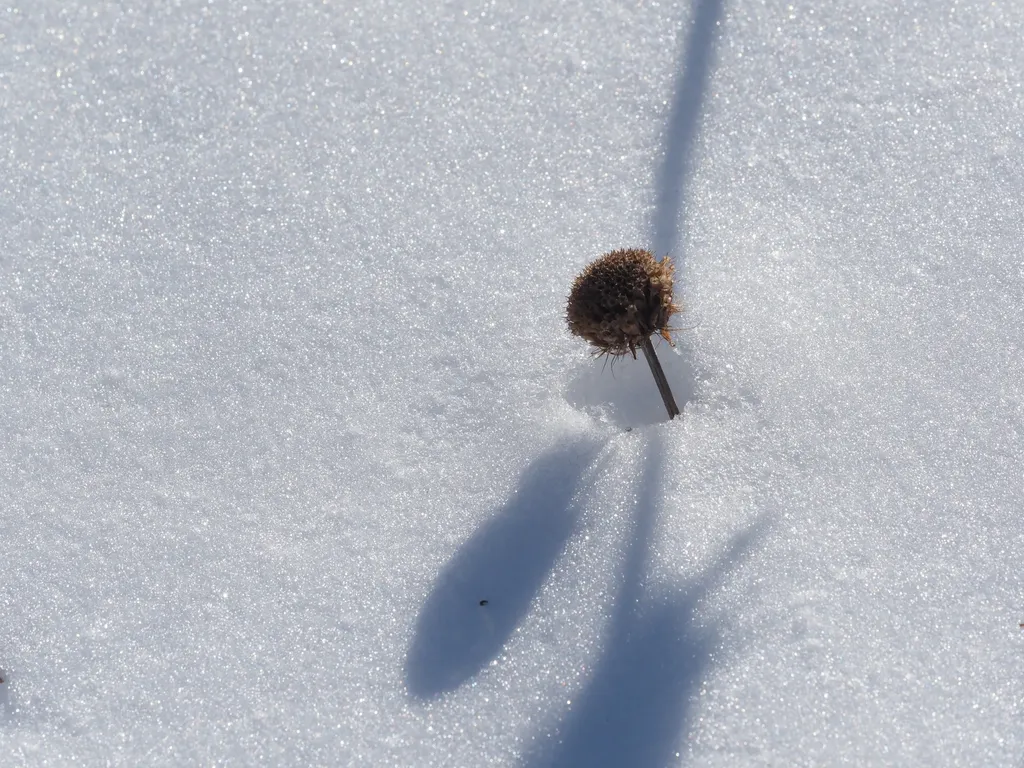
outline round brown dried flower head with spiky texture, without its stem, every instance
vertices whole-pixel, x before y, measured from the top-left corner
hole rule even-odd
[[[565,319],[569,331],[593,344],[598,354],[637,356],[637,347],[659,333],[670,344],[672,259],[650,251],[612,251],[592,262],[572,284]]]

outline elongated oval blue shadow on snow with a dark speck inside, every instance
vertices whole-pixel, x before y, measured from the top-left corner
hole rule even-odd
[[[599,451],[573,443],[534,461],[512,498],[449,561],[417,621],[410,693],[454,690],[501,652],[575,528],[573,498]]]

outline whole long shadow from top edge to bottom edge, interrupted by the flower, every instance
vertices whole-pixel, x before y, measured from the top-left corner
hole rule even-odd
[[[655,176],[651,245],[676,253],[683,194],[714,59],[723,0],[696,0],[666,126],[665,159]],[[662,768],[673,762],[691,701],[711,665],[714,628],[693,621],[696,605],[753,546],[761,523],[729,546],[685,588],[647,594],[647,561],[663,473],[658,435],[651,437],[634,528],[602,655],[565,719],[527,756],[530,768]]]

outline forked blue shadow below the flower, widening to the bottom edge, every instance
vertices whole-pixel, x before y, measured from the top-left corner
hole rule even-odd
[[[714,628],[694,623],[701,599],[722,584],[760,536],[733,538],[699,575],[680,588],[646,589],[657,516],[662,458],[651,439],[623,580],[601,656],[565,719],[526,762],[529,768],[663,768],[677,761],[689,711],[711,667]],[[654,594],[651,594],[653,592]]]

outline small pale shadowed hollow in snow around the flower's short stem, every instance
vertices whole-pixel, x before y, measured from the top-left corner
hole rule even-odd
[[[657,358],[679,408],[693,399],[696,377],[685,352],[655,343]],[[565,400],[578,411],[617,427],[643,427],[668,420],[657,385],[642,354],[605,362],[588,360],[565,388]]]

